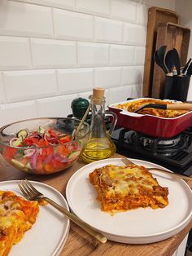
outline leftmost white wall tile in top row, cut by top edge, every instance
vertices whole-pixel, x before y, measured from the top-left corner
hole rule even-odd
[[[74,10],[75,0],[27,0],[26,2],[37,3],[47,7],[58,7],[61,9]]]

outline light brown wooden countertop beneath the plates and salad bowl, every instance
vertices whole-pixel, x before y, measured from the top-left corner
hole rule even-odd
[[[120,157],[115,154],[114,157]],[[36,180],[42,183],[46,183],[53,188],[56,188],[59,192],[65,195],[66,184],[72,174],[84,166],[81,162],[76,162],[68,170],[63,170],[58,174],[51,175],[29,175],[20,170],[16,170],[10,166],[0,156],[0,180],[15,180],[15,179],[30,179]],[[192,183],[190,183],[192,187]],[[178,205],[179,207],[179,205]],[[106,244],[98,244],[87,233],[85,233],[81,227],[71,222],[70,232],[66,244],[64,245],[61,256],[68,255],[133,255],[133,256],[154,256],[154,255],[172,255],[177,249],[178,245],[185,238],[187,233],[192,228],[192,222],[190,222],[184,230],[179,232],[176,236],[148,245],[129,245],[122,244],[113,241],[107,241]]]

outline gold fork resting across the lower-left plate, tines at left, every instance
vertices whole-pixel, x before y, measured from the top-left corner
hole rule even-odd
[[[64,209],[61,205],[55,203],[50,198],[44,196],[41,192],[37,191],[36,188],[33,187],[32,183],[30,183],[27,179],[20,180],[18,183],[20,191],[24,194],[24,197],[28,201],[40,201],[44,200],[48,202],[50,205],[54,206],[57,210],[65,214],[72,222],[76,223],[78,226],[82,227],[86,232],[88,232],[91,236],[94,236],[98,241],[103,244],[107,241],[107,237],[103,236],[103,234],[99,233],[94,227],[89,226],[89,224],[85,223],[78,218],[75,214],[70,213],[68,210]]]

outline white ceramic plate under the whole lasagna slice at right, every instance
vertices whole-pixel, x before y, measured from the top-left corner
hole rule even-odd
[[[151,162],[131,159],[137,165],[160,167]],[[114,216],[100,210],[96,190],[89,183],[89,173],[108,164],[123,166],[118,158],[96,161],[77,170],[68,181],[67,200],[72,211],[103,232],[111,241],[146,244],[162,241],[180,232],[192,217],[192,192],[181,179],[153,171],[153,176],[163,187],[168,187],[169,204],[164,209],[138,208]]]

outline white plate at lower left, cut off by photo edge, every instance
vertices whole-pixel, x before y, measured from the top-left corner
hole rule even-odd
[[[17,185],[17,180],[0,182],[1,190],[15,192],[23,196]],[[55,188],[44,183],[32,181],[37,190],[68,209],[68,204],[62,194]],[[69,231],[69,220],[53,206],[40,206],[36,223],[24,233],[21,241],[13,245],[9,256],[56,256],[63,249]]]

